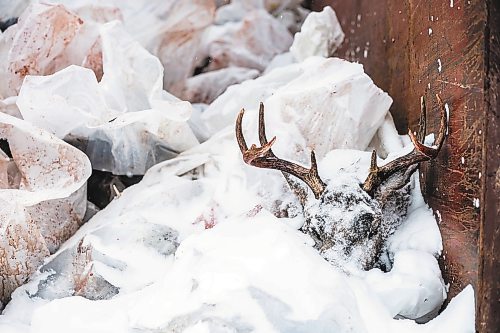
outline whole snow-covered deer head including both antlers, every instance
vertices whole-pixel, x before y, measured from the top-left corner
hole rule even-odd
[[[264,105],[259,109],[260,147],[248,148],[242,133],[242,109],[236,120],[236,138],[245,163],[283,173],[291,189],[298,196],[305,217],[302,231],[315,240],[315,247],[328,261],[345,266],[370,269],[380,263],[385,241],[399,226],[410,203],[410,177],[420,162],[437,156],[443,145],[447,128],[446,111],[441,98],[436,95],[441,110],[439,132],[431,147],[422,142],[426,132],[426,108],[421,99],[419,130],[409,131],[414,149],[383,166],[377,165],[374,150],[368,177],[360,184],[357,179],[330,180],[325,183],[318,174],[316,157],[311,152],[311,167],[276,157],[271,147],[276,137],[268,141],[264,124]],[[297,182],[293,175],[307,187]]]

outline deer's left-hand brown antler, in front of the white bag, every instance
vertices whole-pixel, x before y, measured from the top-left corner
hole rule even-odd
[[[243,154],[243,161],[258,168],[275,169],[294,175],[295,177],[306,183],[307,186],[309,186],[313,191],[316,199],[318,199],[325,190],[326,185],[318,175],[318,166],[316,164],[314,151],[311,151],[310,169],[304,168],[303,166],[300,166],[293,162],[277,158],[271,150],[272,145],[276,141],[276,137],[273,137],[269,142],[266,138],[263,103],[260,103],[259,107],[259,141],[261,146],[257,147],[256,145],[252,144],[250,149],[248,149],[241,128],[241,122],[243,120],[244,113],[245,109],[241,109],[236,120],[236,140],[238,141],[241,153]]]

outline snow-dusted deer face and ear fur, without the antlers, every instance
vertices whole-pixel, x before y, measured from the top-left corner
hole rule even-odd
[[[409,184],[373,198],[361,186],[350,174],[339,174],[318,200],[310,195],[304,204],[302,230],[326,260],[345,270],[390,266],[381,253],[410,204]]]

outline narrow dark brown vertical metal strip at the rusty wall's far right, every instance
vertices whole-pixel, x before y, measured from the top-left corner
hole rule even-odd
[[[478,328],[500,331],[500,1],[488,3]]]

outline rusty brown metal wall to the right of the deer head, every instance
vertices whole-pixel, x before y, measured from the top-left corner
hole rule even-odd
[[[400,133],[408,125],[416,128],[421,95],[431,107],[436,93],[448,104],[448,137],[439,158],[421,167],[422,190],[440,220],[450,297],[472,284],[478,330],[500,330],[500,1],[313,0],[310,5],[335,9],[346,33],[335,55],[362,63],[389,92]],[[438,126],[433,110],[429,131]]]

